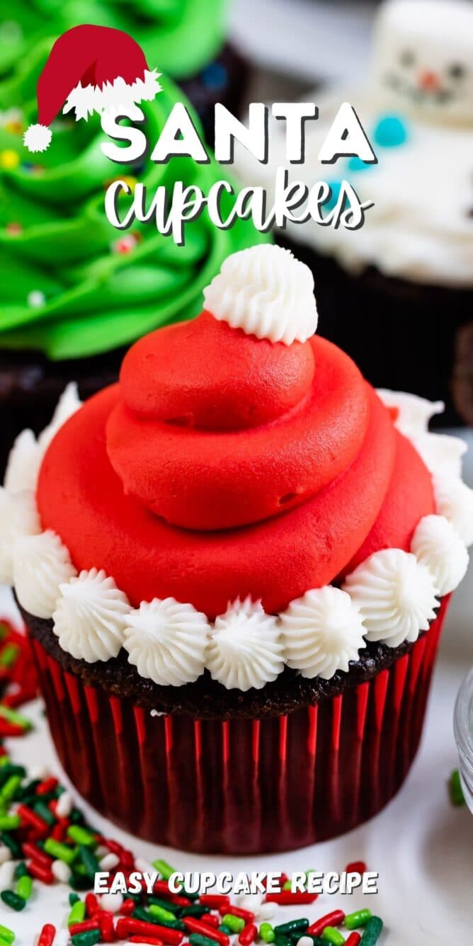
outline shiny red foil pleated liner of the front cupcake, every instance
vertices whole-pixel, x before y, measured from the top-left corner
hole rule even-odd
[[[290,850],[376,815],[419,745],[445,613],[387,670],[287,716],[151,715],[84,685],[33,640],[61,764],[98,812],[149,841]]]

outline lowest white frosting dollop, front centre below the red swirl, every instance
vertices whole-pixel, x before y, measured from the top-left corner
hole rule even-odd
[[[261,690],[284,670],[276,618],[251,598],[230,604],[215,622],[205,664],[227,690]]]

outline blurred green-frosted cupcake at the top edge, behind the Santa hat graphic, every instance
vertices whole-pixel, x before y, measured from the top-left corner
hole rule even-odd
[[[249,75],[247,62],[225,42],[227,0],[15,0],[0,14],[0,76],[8,79],[34,44],[79,23],[130,33],[160,72],[175,79],[213,140],[214,106],[237,113]]]

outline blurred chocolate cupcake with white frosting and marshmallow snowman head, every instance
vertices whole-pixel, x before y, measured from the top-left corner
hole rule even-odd
[[[311,220],[289,224],[281,235],[314,272],[324,337],[376,386],[443,399],[440,423],[450,424],[459,419],[455,405],[463,413],[467,407],[456,349],[473,306],[472,56],[471,3],[385,3],[369,82],[314,93],[320,117],[306,126],[305,164],[289,172],[290,180],[326,181],[332,201],[347,180],[360,201],[375,205],[355,232]],[[354,105],[376,165],[319,162],[343,101]],[[273,179],[274,167],[286,163],[274,124],[270,166],[240,158],[238,169],[252,183],[263,174]],[[332,209],[328,203],[324,215]]]

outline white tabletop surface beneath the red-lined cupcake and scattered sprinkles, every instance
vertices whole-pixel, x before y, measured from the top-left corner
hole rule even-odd
[[[473,484],[473,434],[467,435],[470,457],[465,475]],[[379,872],[376,896],[324,896],[294,912],[311,920],[331,909],[345,912],[369,906],[383,918],[386,932],[379,946],[471,946],[473,942],[473,817],[466,808],[453,808],[446,781],[458,761],[452,732],[456,693],[473,664],[471,600],[473,568],[456,592],[447,617],[440,658],[430,695],[427,727],[411,775],[394,801],[355,832],[324,844],[287,854],[227,858],[158,849],[120,832],[90,812],[92,823],[117,837],[148,861],[164,856],[176,869],[230,870],[342,870],[350,861],[364,860]],[[0,595],[5,613],[7,594]],[[33,708],[27,708],[31,713]],[[47,763],[58,769],[44,719],[34,710],[37,727],[23,740],[11,740],[11,754],[33,766]],[[132,778],[132,773],[131,773]],[[198,815],[196,815],[198,816]],[[32,946],[46,921],[61,926],[67,915],[68,888],[56,885],[35,895],[21,914],[0,905],[0,922],[17,932],[15,946]],[[282,917],[290,916],[285,909]],[[283,921],[280,919],[278,921]]]

